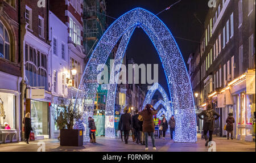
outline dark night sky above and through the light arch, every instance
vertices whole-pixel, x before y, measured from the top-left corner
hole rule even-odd
[[[157,14],[178,0],[107,0],[107,13],[113,18],[119,18],[125,12],[136,7],[142,7],[153,14]],[[188,61],[190,53],[195,53],[199,46],[200,38],[203,33],[205,16],[209,10],[207,0],[181,0],[169,10],[163,11],[158,17],[166,24],[172,32],[180,48],[185,63]],[[195,16],[196,15],[196,16]],[[115,19],[108,18],[110,25]],[[201,22],[201,23],[200,23]],[[179,37],[179,38],[177,38]],[[184,39],[192,41],[187,41]],[[158,53],[150,38],[144,33],[143,29],[136,28],[131,36],[126,52],[127,58],[133,58],[138,65],[159,64],[159,84],[169,94],[166,77]],[[188,65],[186,65],[188,67]],[[146,88],[147,85],[142,85]]]

